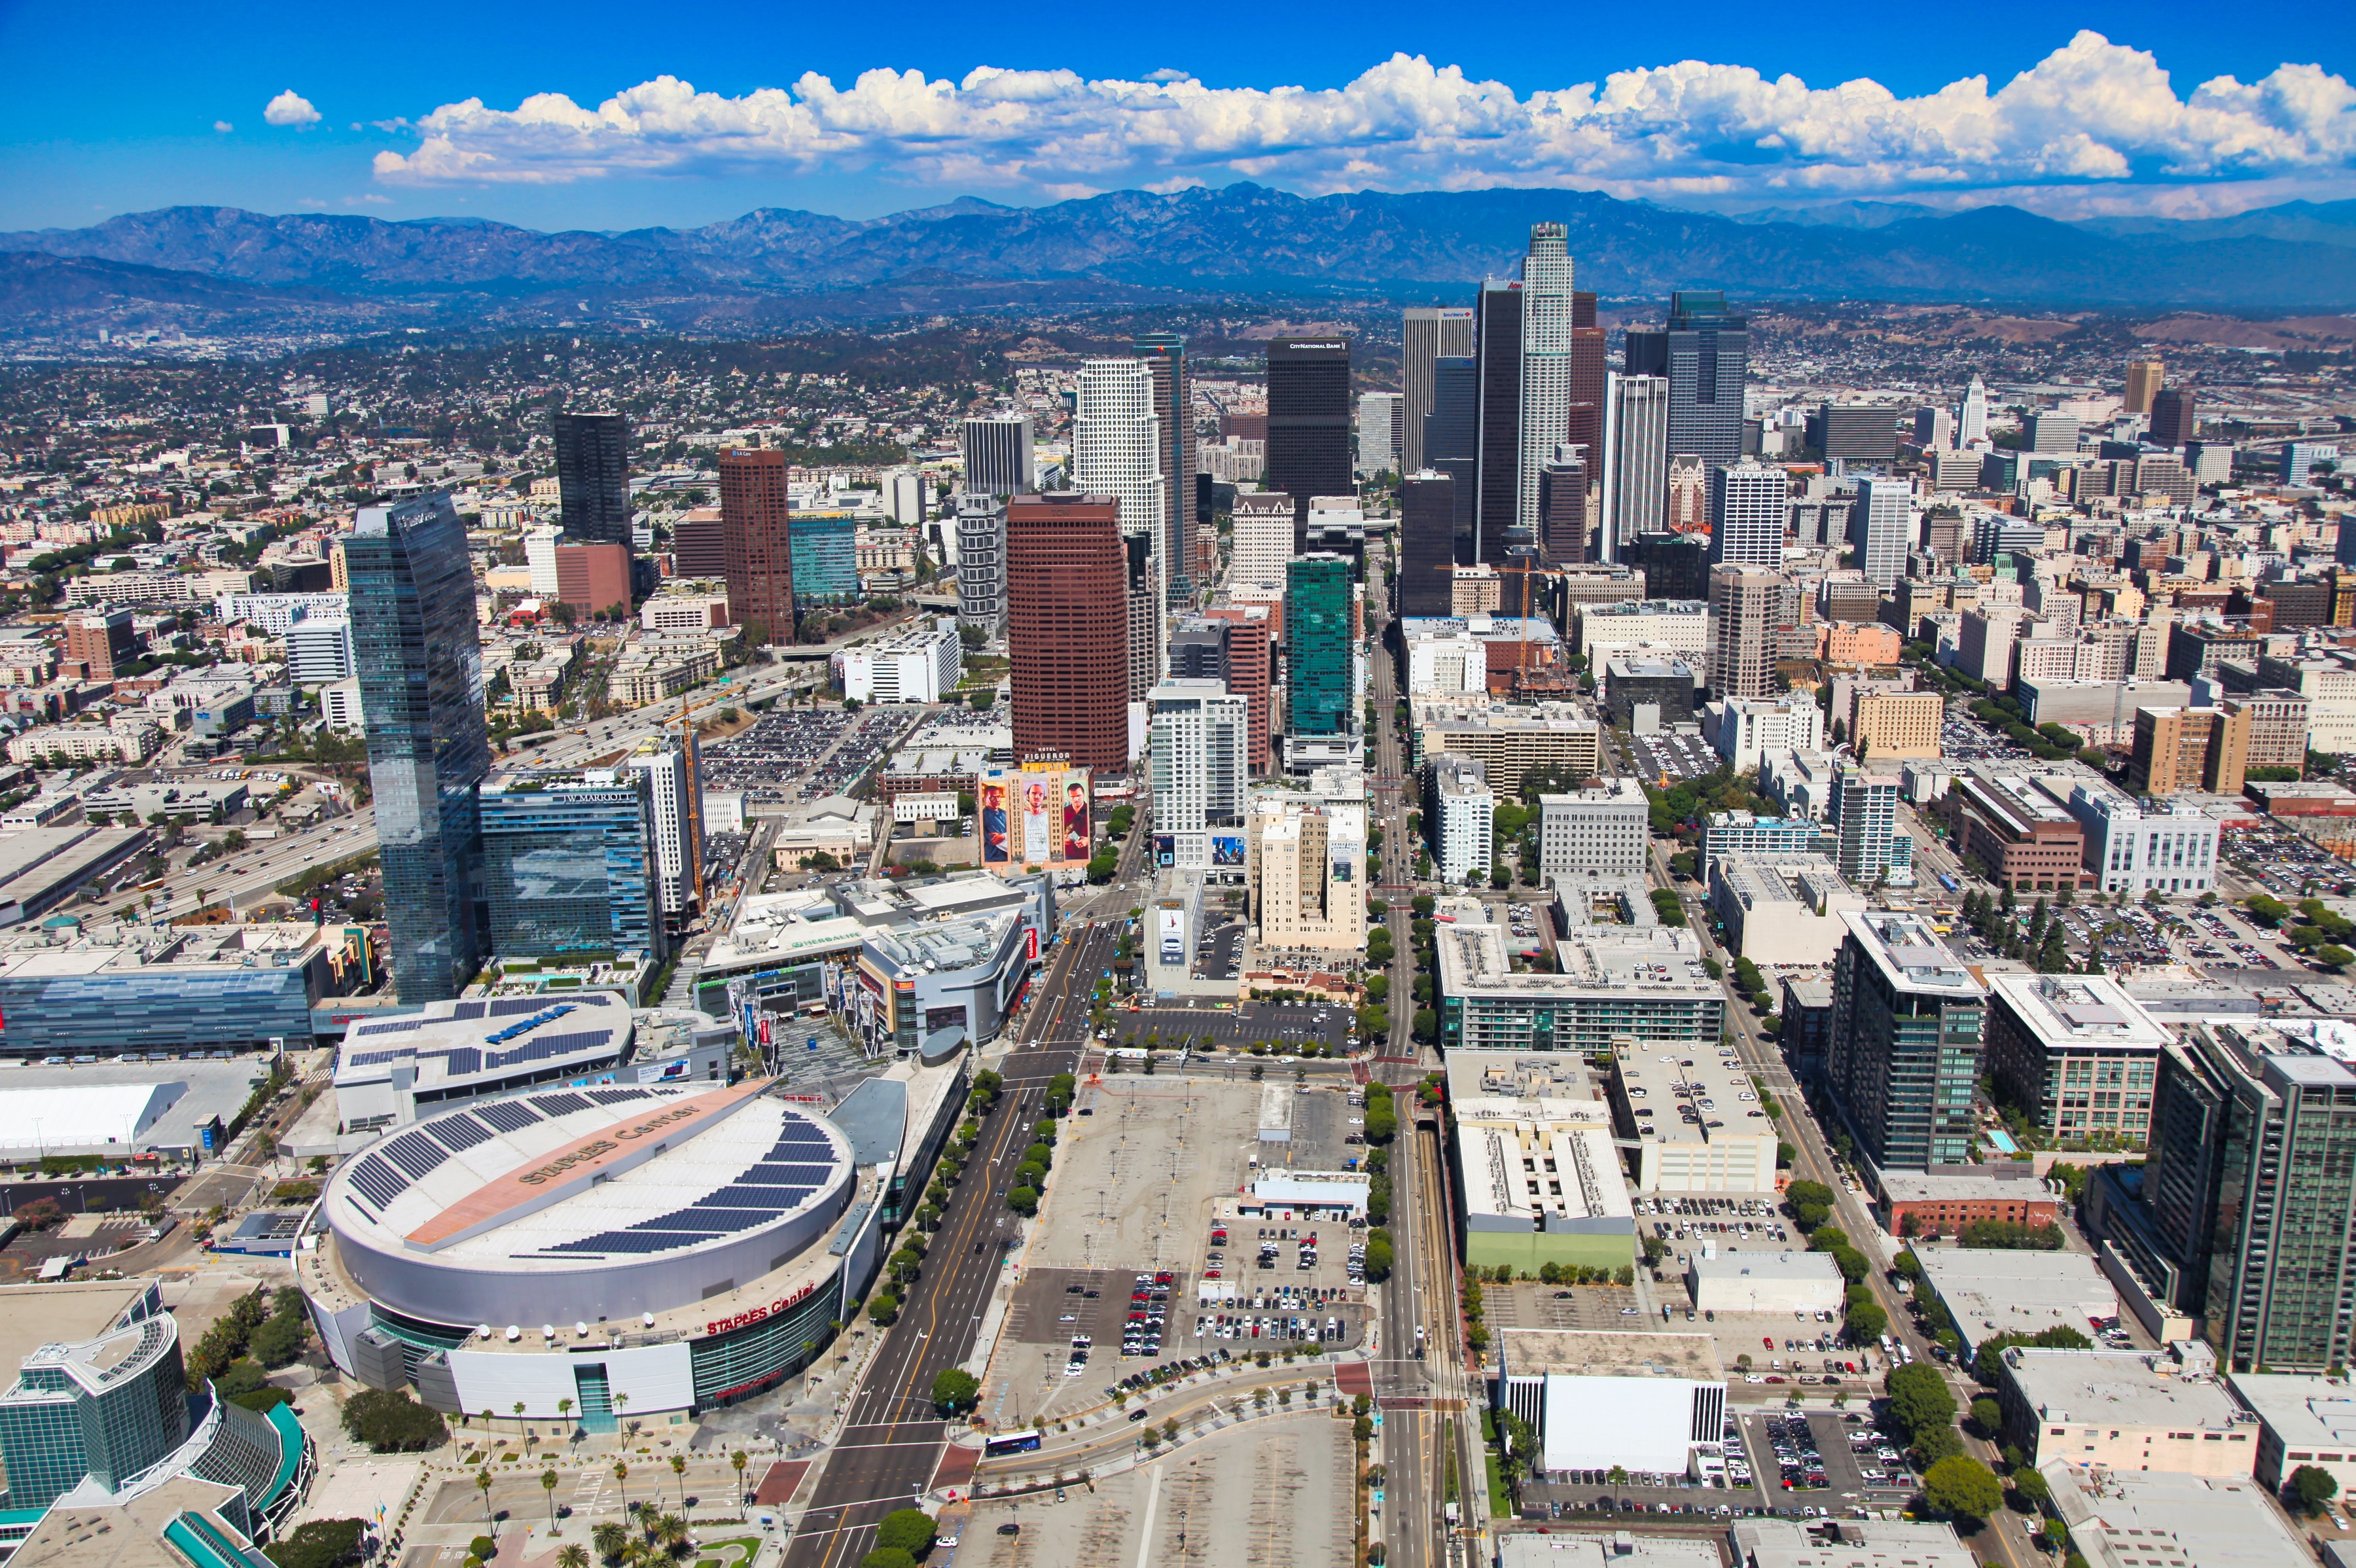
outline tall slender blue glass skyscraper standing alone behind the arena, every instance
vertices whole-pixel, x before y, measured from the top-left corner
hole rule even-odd
[[[393,984],[403,1003],[445,1001],[483,961],[476,786],[490,742],[466,527],[441,492],[363,506],[344,567]]]

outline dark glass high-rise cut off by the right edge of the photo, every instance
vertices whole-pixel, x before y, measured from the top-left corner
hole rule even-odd
[[[2356,1349],[2356,1069],[2340,1034],[2203,1022],[2160,1052],[2144,1201],[2177,1307],[2236,1373],[2337,1373]]]

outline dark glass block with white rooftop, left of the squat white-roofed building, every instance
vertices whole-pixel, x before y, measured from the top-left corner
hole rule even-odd
[[[1967,1165],[1986,989],[1913,913],[1842,913],[1826,1078],[1875,1168]]]

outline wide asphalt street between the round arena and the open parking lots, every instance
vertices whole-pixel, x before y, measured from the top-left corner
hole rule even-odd
[[[916,1504],[933,1483],[947,1424],[933,1413],[933,1377],[973,1354],[982,1311],[1020,1241],[1006,1191],[1013,1154],[1030,1142],[1046,1081],[1079,1064],[1086,1008],[1079,998],[1112,963],[1112,930],[1070,928],[1032,986],[1001,1057],[1004,1092],[982,1121],[982,1142],[931,1236],[926,1269],[851,1396],[848,1422],[810,1495],[785,1568],[851,1568],[874,1528]]]

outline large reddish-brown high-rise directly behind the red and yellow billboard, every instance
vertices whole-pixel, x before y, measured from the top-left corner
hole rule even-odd
[[[1110,494],[1006,504],[1015,760],[1060,751],[1129,772],[1129,558]]]

